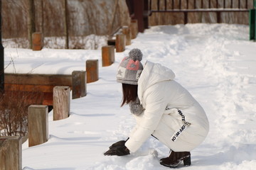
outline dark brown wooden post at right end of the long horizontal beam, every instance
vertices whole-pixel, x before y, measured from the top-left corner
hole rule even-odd
[[[86,96],[86,72],[72,72],[72,98],[80,98]]]

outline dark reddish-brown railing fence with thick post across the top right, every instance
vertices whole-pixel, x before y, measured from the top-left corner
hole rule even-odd
[[[217,23],[223,22],[221,13],[248,13],[254,0],[126,0],[131,18],[137,19],[139,32],[149,26],[152,13],[181,13],[188,23],[188,13],[216,13]]]

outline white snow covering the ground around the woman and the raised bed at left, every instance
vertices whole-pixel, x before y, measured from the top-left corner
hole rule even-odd
[[[48,142],[23,143],[23,169],[169,169],[159,164],[169,149],[154,137],[128,156],[103,155],[135,125],[128,106],[120,108],[122,89],[115,79],[119,62],[134,47],[142,50],[142,62],[172,69],[208,115],[208,137],[191,152],[192,165],[180,169],[255,169],[256,42],[248,37],[248,26],[224,23],[153,26],[139,33],[124,52],[115,52],[114,64],[99,64],[99,81],[87,84],[87,96],[71,101],[69,118],[53,121],[49,113]],[[85,70],[88,59],[101,63],[101,50],[4,50],[5,72],[70,74]]]

